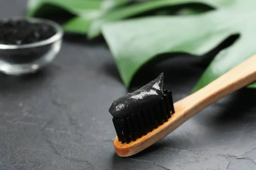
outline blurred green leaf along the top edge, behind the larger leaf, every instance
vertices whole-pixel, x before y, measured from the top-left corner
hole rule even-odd
[[[189,0],[180,0],[179,4],[186,4],[187,1]],[[139,3],[125,6],[131,2]],[[221,0],[217,0],[217,3],[212,4],[221,4],[220,2]],[[148,14],[157,9],[161,11],[161,8],[172,7],[175,4],[175,0],[28,0],[28,16],[44,17],[56,15],[60,9],[64,10],[75,15],[63,24],[64,30],[87,34],[91,39],[101,34],[101,26],[105,23]],[[175,10],[170,8],[168,11],[170,13]],[[201,8],[189,9],[189,12],[195,14],[201,12]]]

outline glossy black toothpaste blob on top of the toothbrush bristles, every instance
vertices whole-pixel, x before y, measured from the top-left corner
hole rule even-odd
[[[163,97],[163,73],[142,88],[115,100],[109,108],[113,117],[126,117],[142,111]]]

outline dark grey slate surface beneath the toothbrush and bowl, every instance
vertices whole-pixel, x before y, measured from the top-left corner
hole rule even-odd
[[[24,0],[0,1],[0,17],[24,14]],[[152,67],[133,89],[165,71],[177,101],[202,73],[195,62],[183,57]],[[218,101],[142,153],[121,158],[108,108],[126,92],[102,41],[81,36],[66,36],[57,59],[38,74],[0,75],[0,169],[256,169],[255,90]]]

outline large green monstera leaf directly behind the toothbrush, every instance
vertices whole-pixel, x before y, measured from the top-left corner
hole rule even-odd
[[[184,0],[171,1],[175,5],[184,3]],[[197,15],[144,17],[103,26],[103,35],[127,87],[134,74],[160,54],[181,52],[201,56],[234,34],[239,34],[239,38],[215,56],[194,91],[256,54],[255,0],[186,0],[186,3],[204,3],[215,10]],[[256,88],[256,83],[249,87]]]

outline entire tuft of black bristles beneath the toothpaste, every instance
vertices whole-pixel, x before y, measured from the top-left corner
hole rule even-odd
[[[131,140],[135,141],[159,125],[163,125],[163,122],[167,122],[172,113],[175,113],[172,91],[164,90],[163,98],[156,104],[130,116],[114,117],[112,120],[118,140],[128,144]]]

